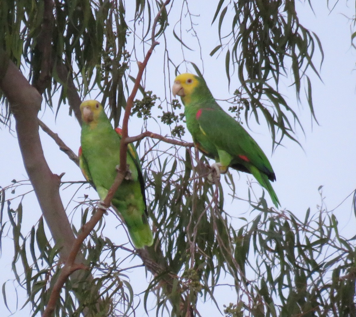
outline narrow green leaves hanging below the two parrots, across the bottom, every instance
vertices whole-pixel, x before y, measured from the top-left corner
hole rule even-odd
[[[239,298],[224,306],[229,317],[246,313],[255,317],[354,315],[355,237],[345,239],[340,235],[335,216],[324,210],[323,202],[319,210],[311,213],[308,209],[305,219],[300,220],[290,211],[267,208],[262,198],[258,203],[251,202],[252,219],[236,219],[239,211],[224,207],[224,196],[231,193],[205,181],[209,168],[204,157],[195,161],[189,150],[180,157],[172,154],[174,147],[165,150],[170,155],[162,156],[160,147],[166,146],[157,147],[152,142],[145,140],[145,147],[153,149],[150,153],[156,158],[150,161],[145,157],[144,171],[150,171],[145,178],[155,244],[146,251],[159,274],[152,277],[145,292],[145,307],[154,293],[157,314],[180,316],[189,309],[182,309],[181,298],[193,310],[198,309],[198,298],[211,298],[216,303],[219,285],[224,281]],[[225,181],[234,194],[229,174]],[[48,301],[48,290],[61,271],[61,260],[42,217],[26,233],[22,229],[26,207],[20,203],[16,209],[10,208],[12,196],[23,195],[18,193],[23,188],[20,183],[14,180],[1,191],[0,228],[2,238],[11,229],[15,280],[25,287],[35,316]],[[25,188],[22,190],[27,194]],[[75,234],[90,218],[94,203],[85,197],[78,205],[83,207],[74,208],[81,219],[73,224]],[[137,267],[130,266],[125,258],[132,259],[135,252],[105,236],[106,217],[82,248],[89,268],[82,279],[89,273],[94,279],[67,281],[55,316],[79,316],[83,310],[95,312],[108,307],[110,316],[134,313],[135,293],[129,272]],[[8,287],[7,282],[2,286],[5,303],[9,302]]]

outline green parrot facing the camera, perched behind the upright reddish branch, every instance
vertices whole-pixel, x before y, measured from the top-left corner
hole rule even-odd
[[[79,166],[84,177],[94,186],[103,201],[114,183],[116,167],[120,164],[121,129],[112,128],[103,106],[96,100],[80,105],[82,134],[80,136]],[[125,177],[111,201],[125,220],[136,248],[153,244],[147,221],[145,183],[135,147],[127,147],[130,176]]]

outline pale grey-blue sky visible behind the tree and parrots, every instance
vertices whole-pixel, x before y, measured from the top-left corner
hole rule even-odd
[[[320,185],[324,186],[323,197],[325,197],[324,203],[328,210],[337,207],[356,187],[356,76],[353,71],[355,68],[356,52],[350,45],[352,33],[350,27],[352,21],[346,18],[346,16],[351,18],[355,15],[355,3],[348,1],[347,4],[349,7],[347,7],[344,2],[340,2],[334,11],[329,13],[326,8],[326,1],[314,2],[317,2],[313,4],[315,15],[307,4],[300,2],[297,2],[297,12],[300,22],[319,36],[325,53],[324,63],[320,72],[323,82],[320,82],[312,72],[309,72],[309,76],[312,79],[315,114],[320,125],[314,122],[312,126],[306,100],[302,99],[302,104],[297,105],[294,88],[288,87],[290,82],[287,80],[282,85],[282,92],[286,95],[286,100],[289,105],[295,105],[293,109],[297,109],[298,107],[300,109],[297,111],[297,114],[300,115],[302,119],[305,137],[300,130],[297,137],[305,152],[297,144],[285,140],[283,143],[284,147],[278,147],[271,156],[271,139],[266,125],[257,126],[251,124],[253,131],[249,131],[272,163],[277,176],[277,181],[273,183],[273,187],[281,202],[282,208],[289,209],[299,218],[304,218],[308,207],[311,208],[312,213],[316,212],[316,206],[320,204],[320,195],[318,193],[318,187]],[[202,46],[205,80],[215,98],[229,98],[234,89],[230,89],[230,92],[227,89],[224,54],[218,59],[215,59],[215,56],[209,57],[210,51],[218,43],[215,31],[216,25],[210,26],[214,9],[206,6],[204,7],[204,11],[201,12],[201,1],[195,1],[194,4],[195,6],[191,6],[190,10],[193,14],[200,14],[200,17],[195,18],[194,22],[199,24],[196,30]],[[174,5],[179,7],[178,2],[174,2]],[[172,22],[167,30],[167,34],[172,31],[174,22],[177,21],[177,16],[174,16],[173,11],[171,13],[172,15],[169,19]],[[187,39],[188,38],[189,36],[187,35]],[[194,39],[190,41],[192,45],[196,44]],[[161,39],[161,42],[161,45],[156,47],[152,59],[148,64],[146,89],[153,90],[153,93],[162,96],[164,95],[164,77],[162,72],[157,73],[157,68],[161,69],[160,63],[163,54],[163,39]],[[182,53],[178,42],[171,41],[169,45],[171,48],[170,57],[174,58],[176,62],[181,61]],[[199,54],[197,52],[186,52],[185,58],[194,61],[201,67]],[[318,66],[319,61],[320,56],[316,56],[316,66]],[[180,71],[183,72],[184,67],[180,68]],[[189,71],[193,72],[193,69],[190,68]],[[137,69],[133,64],[131,74],[132,76],[136,76],[136,73]],[[171,77],[170,80],[172,82],[174,79],[173,72]],[[234,87],[234,83],[235,82],[232,82],[231,87]],[[92,97],[95,96],[92,95]],[[220,105],[224,107],[223,103],[220,103]],[[43,109],[45,109],[44,106]],[[227,109],[227,106],[225,109]],[[55,121],[51,110],[47,107],[44,113],[41,111],[39,116],[53,131],[59,134],[74,152],[77,152],[80,142],[80,128],[73,117],[68,118],[67,112],[67,105],[62,105],[57,120]],[[159,110],[157,113],[159,114],[161,111]],[[135,123],[136,122],[137,121],[135,121]],[[135,131],[133,131],[135,126],[131,122],[129,126],[130,135],[136,134]],[[158,125],[153,122],[149,126],[149,129],[159,133]],[[137,134],[139,132],[140,131],[137,131]],[[164,133],[168,133],[168,131]],[[0,151],[1,186],[9,185],[14,178],[16,180],[27,178],[17,140],[13,135],[13,133],[12,135],[10,134],[7,128],[2,128],[0,132],[0,144],[3,149]],[[65,154],[57,149],[52,139],[43,132],[41,132],[41,138],[46,159],[52,171],[57,174],[66,172],[66,175],[63,177],[65,181],[83,180],[79,168],[75,166]],[[191,140],[188,132],[184,135],[183,139],[186,141]],[[237,172],[232,172],[232,174],[236,179],[239,196],[247,197],[246,175],[241,173],[239,179]],[[252,179],[251,177],[249,178]],[[256,186],[256,190],[259,190],[258,186]],[[70,189],[61,193],[64,206],[66,206],[72,194],[73,191]],[[92,198],[96,198],[93,193],[91,193],[91,196]],[[10,195],[8,194],[7,198],[9,197]],[[77,195],[75,200],[79,201],[80,199],[78,197],[80,196]],[[229,199],[226,199],[226,202],[228,200]],[[334,211],[340,223],[340,232],[346,236],[355,234],[355,217],[351,209],[351,200],[352,197],[349,197]],[[16,208],[17,203],[11,207]],[[40,217],[40,211],[33,194],[28,195],[24,199],[23,205],[23,232],[27,232]],[[246,204],[238,206],[241,208],[239,209],[241,213],[250,210]],[[226,206],[225,209],[227,209]],[[68,213],[71,210],[72,209],[69,208]],[[239,215],[236,216],[238,217]],[[121,229],[113,230],[111,237],[118,235],[118,230]],[[11,236],[11,232],[9,235]],[[121,239],[126,239],[126,237]],[[0,267],[2,269],[0,286],[4,281],[13,279],[11,273],[12,253],[12,241],[9,238],[3,238],[2,255],[0,258]],[[137,261],[137,263],[140,263],[140,261]],[[142,284],[141,282],[145,280],[143,269],[141,271],[135,270],[135,277],[130,276],[130,278],[134,285],[136,285],[136,293],[145,290],[146,284]],[[11,291],[11,284],[11,281],[7,283],[9,286],[7,296],[14,300],[15,296],[14,292]],[[218,290],[219,289],[217,289],[216,292],[218,292]],[[26,293],[19,289],[19,294],[19,306],[21,307],[26,300]],[[236,296],[234,292],[229,293],[229,291],[226,292],[226,290],[222,291],[221,296],[216,293],[219,305],[221,305],[220,308],[223,309],[223,304],[228,305],[230,301],[236,301],[234,296]],[[14,303],[10,303],[10,307],[14,308]],[[213,304],[200,305],[198,308],[203,316],[212,316],[211,311],[216,311]],[[10,315],[10,313],[7,313],[2,298],[0,298],[0,309],[2,316]],[[152,316],[154,314],[152,311]],[[25,308],[25,310],[18,311],[13,316],[27,315],[28,308]],[[137,316],[144,315],[143,310],[138,311]]]

